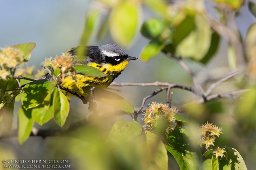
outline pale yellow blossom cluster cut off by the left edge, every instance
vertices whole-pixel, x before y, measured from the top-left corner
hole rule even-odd
[[[1,48],[0,51],[0,78],[6,80],[14,75],[16,67],[25,61],[24,52],[12,46]]]

